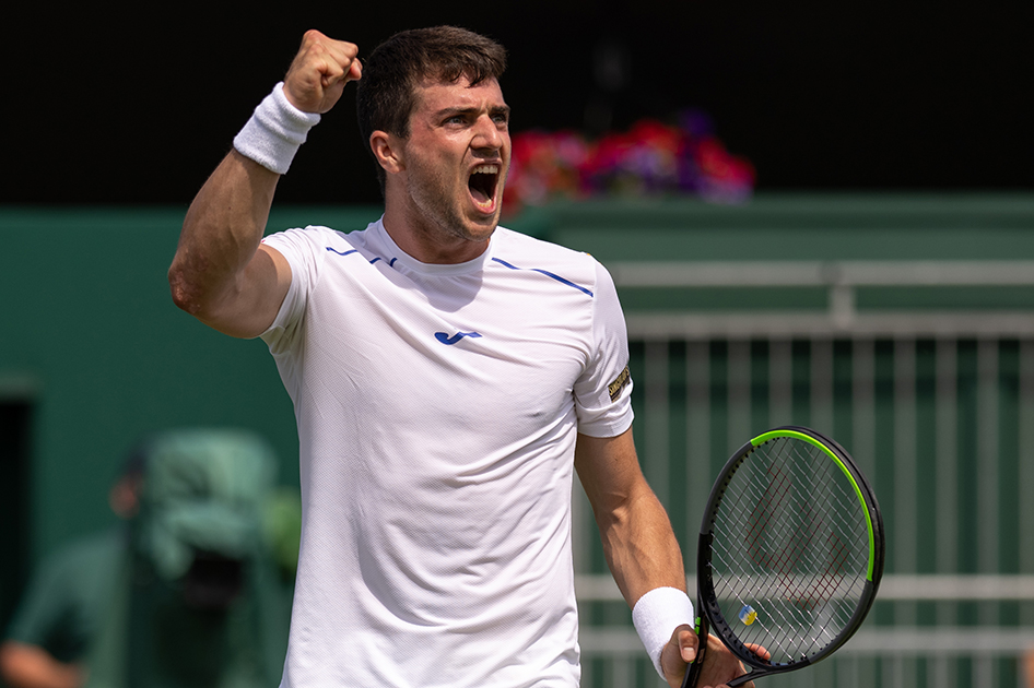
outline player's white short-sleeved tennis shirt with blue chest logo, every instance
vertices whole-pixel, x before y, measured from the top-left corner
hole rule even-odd
[[[380,222],[266,244],[303,499],[281,686],[577,686],[576,432],[632,424],[610,275],[502,227],[456,265]]]

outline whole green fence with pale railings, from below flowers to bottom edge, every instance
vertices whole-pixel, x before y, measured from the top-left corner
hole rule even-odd
[[[682,227],[644,209],[639,230],[612,213],[597,233],[581,215],[557,232],[615,276],[641,460],[686,560],[731,451],[776,425],[816,427],[872,478],[888,578],[834,659],[764,684],[1022,685],[1018,660],[1034,648],[1031,205],[768,207],[709,209]],[[660,685],[579,503],[584,685]]]

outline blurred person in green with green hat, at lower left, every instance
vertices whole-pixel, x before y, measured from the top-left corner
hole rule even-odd
[[[171,430],[142,442],[110,491],[124,523],[42,567],[0,653],[3,679],[270,685],[286,647],[297,537],[297,509],[290,491],[273,490],[274,470],[272,450],[247,431]]]

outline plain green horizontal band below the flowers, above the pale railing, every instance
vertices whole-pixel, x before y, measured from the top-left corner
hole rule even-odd
[[[1034,257],[1034,194],[777,194],[561,203],[518,217],[612,260],[938,260]]]

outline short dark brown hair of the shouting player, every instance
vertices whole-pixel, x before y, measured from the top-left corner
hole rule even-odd
[[[363,60],[355,104],[364,145],[373,155],[369,137],[377,130],[409,137],[421,82],[451,83],[466,76],[477,85],[498,79],[505,70],[506,49],[466,28],[434,26],[395,34]],[[386,175],[376,158],[374,163],[383,193]]]

